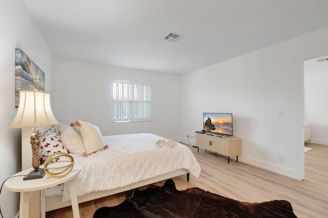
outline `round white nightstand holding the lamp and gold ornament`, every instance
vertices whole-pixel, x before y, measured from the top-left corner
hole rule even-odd
[[[12,178],[8,179],[5,182],[5,187],[9,191],[20,192],[20,202],[19,202],[19,218],[28,217],[29,215],[29,192],[30,191],[37,191],[40,190],[40,208],[41,208],[41,217],[46,217],[46,206],[45,206],[45,189],[50,188],[62,183],[69,183],[70,187],[70,194],[71,194],[71,202],[72,202],[72,210],[73,210],[73,217],[79,218],[80,213],[78,209],[76,191],[75,191],[75,183],[74,177],[78,175],[81,170],[81,167],[77,164],[74,164],[73,170],[64,178],[61,179],[54,179],[48,177],[46,175],[42,179],[35,179],[35,180],[25,180],[23,181],[22,177],[15,177],[19,175],[27,175],[33,168],[26,169],[20,172],[17,172],[13,175]]]

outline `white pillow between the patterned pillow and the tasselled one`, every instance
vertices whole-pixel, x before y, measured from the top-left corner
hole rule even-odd
[[[58,124],[61,141],[64,143],[67,150],[71,153],[83,154],[86,148],[83,145],[83,140],[80,134],[76,133],[74,128],[69,125]]]

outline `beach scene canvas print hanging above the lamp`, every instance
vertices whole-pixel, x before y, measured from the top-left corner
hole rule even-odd
[[[15,55],[15,106],[18,107],[19,91],[45,91],[45,73],[21,50]]]

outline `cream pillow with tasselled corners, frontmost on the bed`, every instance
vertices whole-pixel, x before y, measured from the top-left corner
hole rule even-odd
[[[82,120],[78,120],[78,122],[81,124],[81,126],[79,126],[79,128],[74,126],[74,129],[79,129],[84,147],[87,150],[87,154],[91,154],[97,150],[104,149],[105,142],[103,136],[100,133],[99,127]]]

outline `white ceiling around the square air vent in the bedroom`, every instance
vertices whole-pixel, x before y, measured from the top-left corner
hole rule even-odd
[[[327,0],[24,2],[56,58],[172,74],[328,26]]]

